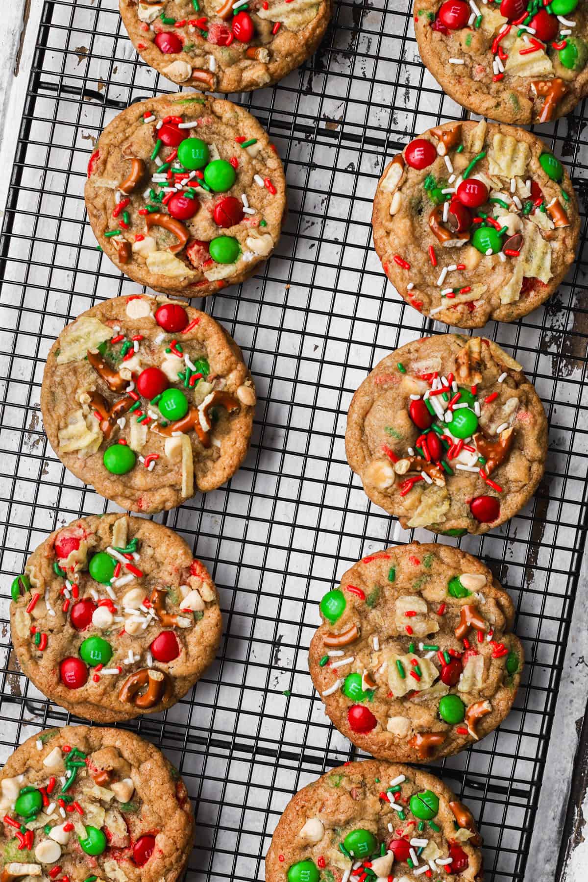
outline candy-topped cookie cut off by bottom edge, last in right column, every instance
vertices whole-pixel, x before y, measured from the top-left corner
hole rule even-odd
[[[443,781],[366,759],[333,769],[290,800],[273,833],[265,878],[436,882],[443,873],[481,882],[480,845],[472,812]]]

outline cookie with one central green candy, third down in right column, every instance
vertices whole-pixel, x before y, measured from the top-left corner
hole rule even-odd
[[[512,518],[547,456],[540,398],[493,340],[446,334],[406,343],[349,407],[349,465],[402,527],[460,536]]]

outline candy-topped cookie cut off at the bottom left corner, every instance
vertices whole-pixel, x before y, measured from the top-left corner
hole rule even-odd
[[[4,882],[175,882],[188,863],[188,792],[163,754],[132,732],[45,729],[12,754],[0,789]]]

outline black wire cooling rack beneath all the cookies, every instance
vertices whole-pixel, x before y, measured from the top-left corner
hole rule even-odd
[[[56,460],[39,395],[63,325],[100,299],[138,290],[96,250],[82,196],[86,163],[116,112],[172,84],[138,61],[117,8],[117,0],[45,2],[10,173],[1,252],[0,759],[41,727],[70,720],[19,672],[7,624],[11,579],[48,532],[114,509]],[[316,603],[356,559],[413,536],[368,504],[352,477],[346,410],[383,355],[425,329],[445,330],[423,322],[386,281],[370,243],[371,200],[391,153],[464,116],[422,67],[406,0],[341,0],[308,64],[279,86],[233,97],[270,131],[289,184],[277,254],[256,279],[203,307],[249,360],[257,420],[249,457],[227,487],[160,518],[212,570],[225,633],[188,699],[130,724],[184,775],[197,816],[189,871],[197,880],[263,878],[290,796],[354,756],[325,722],[308,674]],[[540,133],[582,195],[581,109]],[[582,255],[584,245],[585,225]],[[502,727],[435,769],[480,819],[488,880],[525,876],[584,551],[584,266],[578,260],[545,308],[485,329],[525,365],[550,423],[547,473],[532,503],[500,530],[461,541],[509,587],[527,656]]]

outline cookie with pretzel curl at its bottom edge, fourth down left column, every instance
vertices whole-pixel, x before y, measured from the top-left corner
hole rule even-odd
[[[12,582],[12,642],[48,699],[98,722],[175,704],[219,645],[219,597],[186,543],[108,514],[52,533]]]

